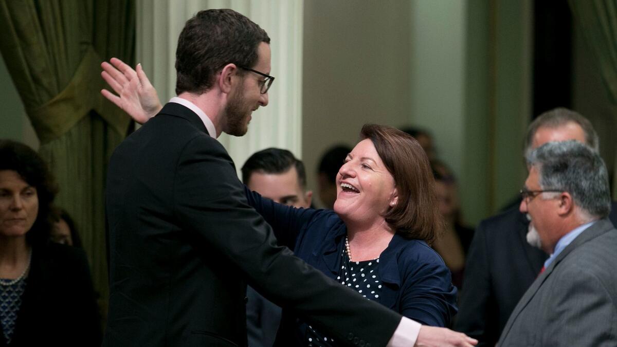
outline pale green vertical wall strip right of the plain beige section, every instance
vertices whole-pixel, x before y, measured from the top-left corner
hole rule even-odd
[[[465,135],[465,1],[410,2],[410,111],[431,130],[437,156],[461,177]]]

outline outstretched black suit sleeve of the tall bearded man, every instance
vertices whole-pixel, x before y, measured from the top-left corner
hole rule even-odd
[[[327,278],[286,247],[247,203],[225,149],[207,136],[185,146],[176,165],[173,204],[181,227],[216,248],[267,299],[348,345],[386,346],[400,315]]]

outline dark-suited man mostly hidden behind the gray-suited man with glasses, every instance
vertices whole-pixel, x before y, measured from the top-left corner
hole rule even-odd
[[[589,120],[564,108],[539,115],[530,125],[525,153],[549,141],[577,140],[598,149],[598,136]],[[616,209],[610,218],[617,221]],[[542,269],[548,255],[529,245],[526,215],[514,206],[482,220],[471,242],[465,280],[454,329],[494,346],[516,303]]]

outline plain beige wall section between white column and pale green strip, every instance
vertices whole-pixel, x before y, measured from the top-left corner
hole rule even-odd
[[[409,8],[407,1],[305,1],[301,156],[310,188],[323,151],[355,144],[363,123],[408,122]]]

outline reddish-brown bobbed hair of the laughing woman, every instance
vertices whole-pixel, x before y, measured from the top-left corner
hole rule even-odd
[[[396,128],[365,124],[362,140],[369,139],[394,177],[398,203],[384,215],[400,235],[433,243],[443,229],[428,157],[418,141]]]

